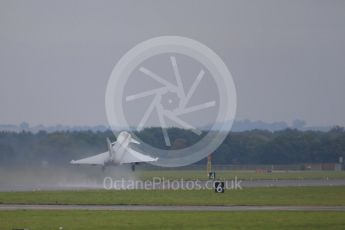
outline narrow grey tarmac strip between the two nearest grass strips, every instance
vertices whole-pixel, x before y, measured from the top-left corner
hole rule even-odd
[[[345,206],[159,206],[159,205],[21,205],[1,204],[4,210],[105,211],[342,211]]]

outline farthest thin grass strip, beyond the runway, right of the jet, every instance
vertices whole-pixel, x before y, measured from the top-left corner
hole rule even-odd
[[[165,179],[205,180],[207,173],[204,170],[137,170],[134,173],[140,179],[164,177]],[[276,179],[345,179],[345,171],[273,171],[271,173],[246,170],[219,170],[217,178],[241,180],[276,180]]]

